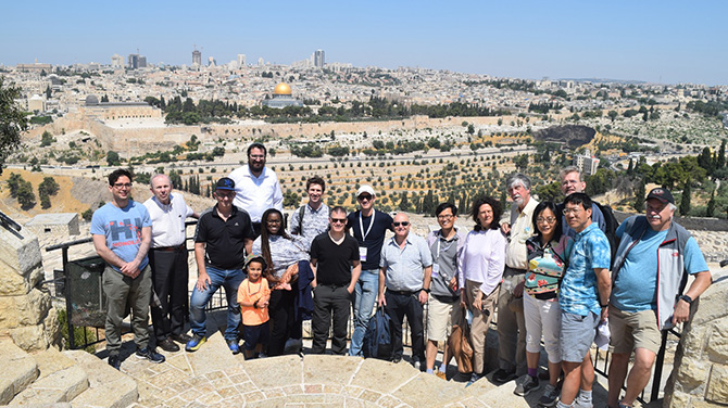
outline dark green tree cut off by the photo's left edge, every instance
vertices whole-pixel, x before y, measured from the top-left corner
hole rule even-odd
[[[4,85],[0,76],[0,175],[8,156],[21,144],[21,132],[28,128],[26,113],[15,103],[21,98],[21,88]]]

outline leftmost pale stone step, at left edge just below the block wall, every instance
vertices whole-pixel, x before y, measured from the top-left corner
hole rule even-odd
[[[38,364],[12,341],[0,341],[0,405],[9,404],[38,378]],[[11,369],[12,368],[12,369]]]

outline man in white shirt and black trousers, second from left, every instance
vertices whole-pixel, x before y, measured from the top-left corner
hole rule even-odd
[[[150,180],[152,197],[145,202],[152,220],[152,247],[149,264],[159,305],[152,306],[152,322],[156,344],[165,352],[178,352],[189,336],[185,334],[187,305],[187,239],[185,219],[200,218],[181,194],[172,194],[172,180],[166,175],[154,175]]]

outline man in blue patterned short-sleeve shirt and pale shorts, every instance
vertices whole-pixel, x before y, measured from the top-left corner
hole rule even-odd
[[[610,241],[592,222],[591,204],[591,199],[585,193],[572,193],[564,200],[563,213],[576,237],[558,291],[558,344],[564,370],[560,408],[573,406],[575,399],[580,407],[592,406],[594,366],[589,349],[597,326],[606,320],[606,303],[612,289]]]

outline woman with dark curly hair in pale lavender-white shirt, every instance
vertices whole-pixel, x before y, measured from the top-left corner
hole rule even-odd
[[[485,375],[486,334],[505,267],[506,240],[499,226],[502,214],[501,203],[493,197],[480,195],[473,201],[469,215],[475,228],[465,237],[457,265],[461,307],[473,313],[473,375],[466,386]]]

